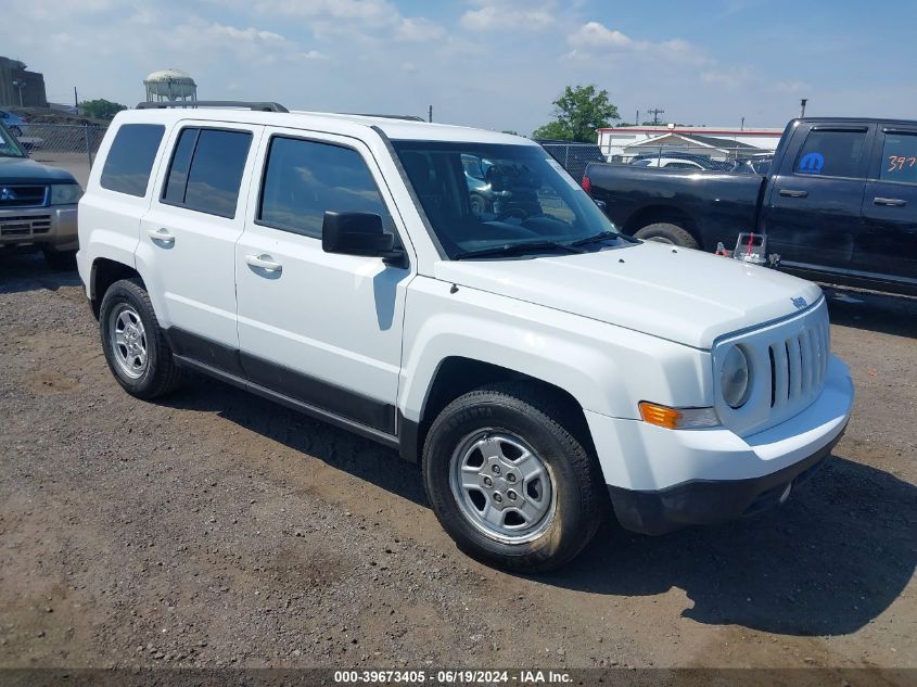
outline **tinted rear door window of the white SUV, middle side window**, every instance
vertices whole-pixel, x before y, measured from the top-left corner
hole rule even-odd
[[[249,131],[183,129],[173,152],[163,202],[234,217],[251,144]]]

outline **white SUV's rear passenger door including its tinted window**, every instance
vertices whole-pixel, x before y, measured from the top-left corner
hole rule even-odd
[[[262,129],[190,120],[176,126],[137,249],[176,354],[239,376],[235,242],[246,201],[240,191]]]

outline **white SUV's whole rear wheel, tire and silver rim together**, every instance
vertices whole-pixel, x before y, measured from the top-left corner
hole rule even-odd
[[[99,329],[109,368],[131,396],[155,398],[180,384],[181,370],[139,279],[109,288],[99,308]]]

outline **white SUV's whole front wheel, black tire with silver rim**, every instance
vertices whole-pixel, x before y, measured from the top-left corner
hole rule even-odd
[[[460,396],[434,420],[423,447],[426,495],[462,551],[543,572],[589,543],[608,493],[565,416],[539,387],[506,383]]]

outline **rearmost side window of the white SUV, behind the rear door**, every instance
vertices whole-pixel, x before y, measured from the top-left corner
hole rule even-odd
[[[161,124],[125,124],[105,157],[99,183],[103,189],[143,198],[166,128]]]

